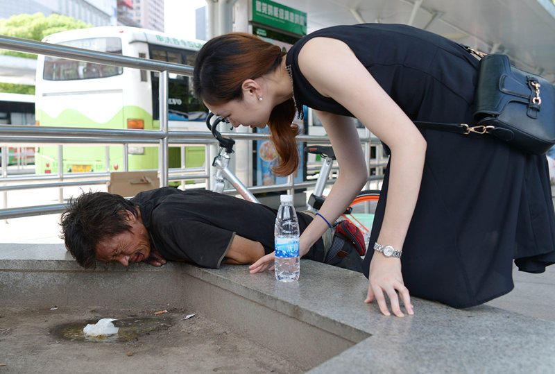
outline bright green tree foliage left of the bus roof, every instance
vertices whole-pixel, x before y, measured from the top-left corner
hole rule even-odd
[[[46,35],[59,33],[60,31],[74,30],[76,28],[92,27],[92,24],[78,21],[67,15],[52,14],[44,17],[41,12],[34,15],[22,14],[12,15],[8,19],[0,19],[0,34],[12,37],[23,37],[31,40],[42,40]],[[0,50],[0,54],[19,56],[26,58],[37,58],[31,53]]]

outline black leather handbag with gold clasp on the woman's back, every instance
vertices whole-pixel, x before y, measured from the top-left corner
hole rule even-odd
[[[502,54],[481,57],[475,125],[415,121],[421,128],[463,135],[490,134],[527,153],[543,154],[555,144],[555,87],[548,80],[511,66]]]

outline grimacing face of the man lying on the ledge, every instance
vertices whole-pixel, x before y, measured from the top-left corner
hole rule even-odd
[[[105,238],[96,245],[96,260],[100,262],[119,262],[128,266],[146,260],[151,254],[151,241],[142,221],[127,212],[130,231],[121,232],[114,237]]]

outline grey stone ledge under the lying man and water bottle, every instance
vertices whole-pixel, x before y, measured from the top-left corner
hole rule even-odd
[[[555,367],[554,322],[418,298],[415,316],[386,317],[377,305],[363,303],[366,287],[363,275],[305,260],[300,282],[284,284],[273,273],[251,275],[246,266],[85,270],[61,245],[0,245],[1,305],[195,307],[318,373]]]

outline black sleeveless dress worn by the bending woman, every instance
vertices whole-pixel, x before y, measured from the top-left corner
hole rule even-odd
[[[334,26],[296,42],[286,62],[298,109],[307,105],[352,115],[302,76],[298,53],[312,37],[332,37],[350,46],[410,119],[473,123],[479,60],[456,42],[397,24]],[[554,207],[544,155],[522,153],[487,135],[420,131],[427,141],[424,173],[401,260],[412,296],[471,307],[513,289],[513,259],[530,273],[555,262]],[[366,277],[384,218],[388,176],[389,167],[364,259]]]

